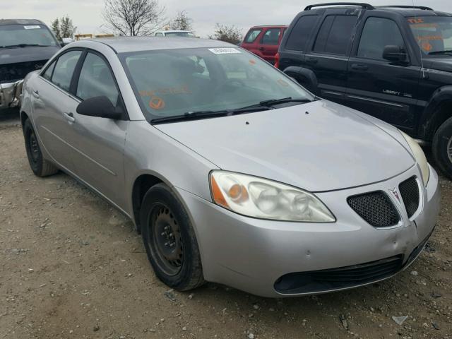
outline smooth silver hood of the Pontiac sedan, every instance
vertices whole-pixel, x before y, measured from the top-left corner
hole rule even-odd
[[[379,182],[415,164],[381,127],[326,100],[155,127],[221,169],[313,192]]]

